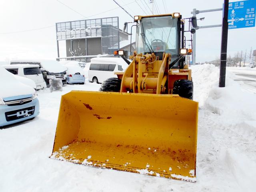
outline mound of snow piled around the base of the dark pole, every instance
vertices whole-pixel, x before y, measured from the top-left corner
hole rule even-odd
[[[218,69],[219,70],[219,69]],[[210,77],[210,76],[209,76]],[[218,87],[218,79],[215,80],[209,91],[205,107],[219,114],[221,120],[226,122],[240,120],[256,120],[255,95],[242,90],[238,82],[234,81],[234,74],[226,72],[226,86]]]

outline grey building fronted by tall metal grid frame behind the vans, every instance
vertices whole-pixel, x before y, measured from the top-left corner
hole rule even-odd
[[[98,54],[111,55],[114,50],[130,52],[128,36],[119,29],[118,17],[56,23],[57,60],[89,62]]]

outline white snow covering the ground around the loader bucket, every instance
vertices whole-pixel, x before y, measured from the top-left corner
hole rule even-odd
[[[227,71],[192,66],[199,101],[197,182],[100,169],[48,158],[52,153],[60,97],[70,90],[97,91],[99,84],[66,85],[38,93],[40,115],[0,130],[0,191],[254,191],[256,188],[256,94]]]

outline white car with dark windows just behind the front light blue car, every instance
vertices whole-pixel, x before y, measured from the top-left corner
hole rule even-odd
[[[46,82],[44,81],[39,65],[16,64],[4,65],[3,67],[14,75],[33,80],[36,83],[36,90],[46,88]]]

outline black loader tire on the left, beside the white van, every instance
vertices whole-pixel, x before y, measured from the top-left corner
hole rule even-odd
[[[101,84],[100,91],[120,92],[121,82],[122,80],[118,78],[108,78]]]

